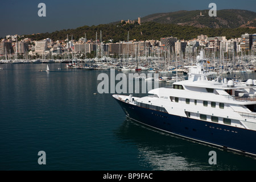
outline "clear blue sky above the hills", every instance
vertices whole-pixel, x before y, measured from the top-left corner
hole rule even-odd
[[[46,17],[38,16],[41,2],[46,4]],[[0,3],[0,37],[105,24],[154,13],[205,10],[212,2],[216,3],[217,10],[256,11],[255,0],[9,0]]]

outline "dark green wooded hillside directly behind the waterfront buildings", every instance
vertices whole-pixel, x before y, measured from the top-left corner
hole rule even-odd
[[[196,38],[198,35],[207,35],[209,37],[213,36],[226,36],[227,39],[239,38],[242,34],[249,33],[255,34],[255,28],[240,27],[240,28],[209,28],[209,27],[195,27],[195,26],[181,26],[176,24],[165,24],[156,22],[146,22],[139,25],[135,24],[125,24],[122,26],[119,24],[100,24],[98,26],[83,26],[75,29],[60,30],[52,33],[41,33],[34,35],[24,35],[24,38],[31,38],[33,40],[42,40],[46,38],[51,38],[53,41],[65,40],[67,35],[69,35],[69,40],[71,40],[71,35],[73,35],[73,40],[79,40],[79,38],[84,37],[96,40],[100,40],[100,31],[102,31],[102,40],[108,41],[113,39],[113,42],[119,42],[119,40],[127,40],[127,34],[129,31],[129,40],[160,40],[160,38],[167,36],[174,36],[178,39],[190,40]]]

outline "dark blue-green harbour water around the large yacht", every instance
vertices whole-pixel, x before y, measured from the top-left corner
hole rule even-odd
[[[98,75],[109,70],[67,69],[64,63],[49,64],[49,73],[46,64],[0,67],[1,171],[256,169],[255,158],[127,119],[112,94],[97,92]],[[255,79],[255,73],[246,76]],[[38,163],[39,151],[46,152],[45,165]],[[217,164],[209,164],[210,151]]]

